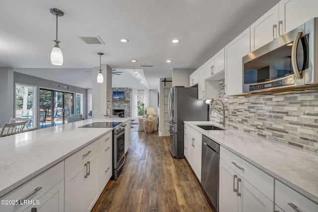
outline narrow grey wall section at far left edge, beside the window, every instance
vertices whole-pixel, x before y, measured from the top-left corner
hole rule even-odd
[[[0,127],[13,117],[14,83],[13,69],[0,67]]]

